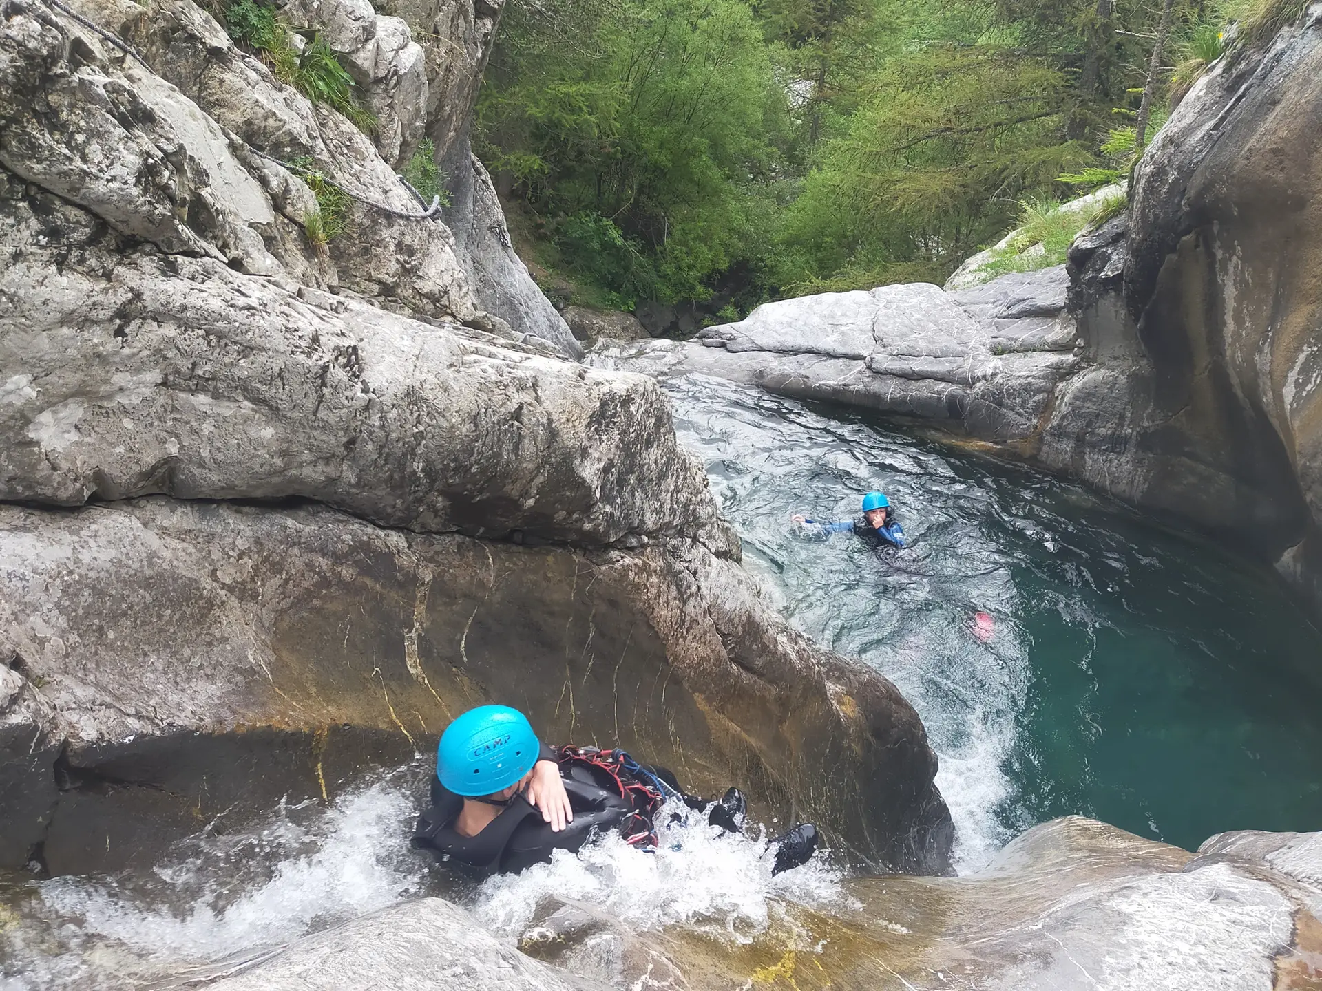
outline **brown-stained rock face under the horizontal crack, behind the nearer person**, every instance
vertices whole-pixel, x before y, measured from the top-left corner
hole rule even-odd
[[[701,548],[583,552],[151,498],[0,509],[0,555],[4,645],[46,706],[26,739],[44,741],[32,786],[52,809],[15,831],[45,842],[54,873],[149,863],[226,809],[330,795],[428,753],[485,702],[698,793],[736,784],[861,860],[947,867],[914,710]]]

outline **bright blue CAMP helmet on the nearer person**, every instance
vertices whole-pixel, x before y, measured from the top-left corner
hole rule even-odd
[[[456,795],[494,794],[530,772],[539,749],[527,716],[517,708],[479,706],[440,735],[436,777]]]

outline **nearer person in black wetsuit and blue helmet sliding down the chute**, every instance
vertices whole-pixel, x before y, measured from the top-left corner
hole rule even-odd
[[[624,751],[546,747],[527,717],[508,706],[479,706],[453,720],[436,748],[431,805],[412,844],[469,873],[517,873],[617,831],[640,850],[656,848],[654,818],[666,798],[707,813],[722,832],[739,832],[744,798],[731,788],[719,802],[686,795],[665,768]],[[817,828],[802,823],[772,840],[772,873],[808,862]]]

